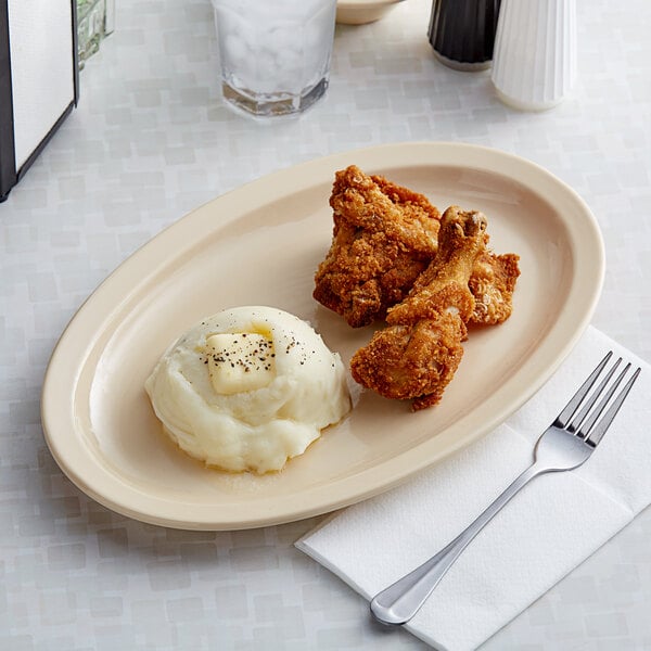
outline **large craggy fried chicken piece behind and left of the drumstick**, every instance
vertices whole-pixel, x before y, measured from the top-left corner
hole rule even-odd
[[[333,239],[314,297],[358,328],[383,319],[437,250],[438,210],[427,199],[355,165],[335,174]]]

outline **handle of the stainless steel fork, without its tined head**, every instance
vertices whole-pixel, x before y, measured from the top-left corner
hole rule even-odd
[[[371,601],[371,613],[375,620],[383,624],[395,625],[411,620],[469,542],[525,484],[545,471],[545,468],[536,463],[529,465],[451,542],[422,565],[375,595]]]

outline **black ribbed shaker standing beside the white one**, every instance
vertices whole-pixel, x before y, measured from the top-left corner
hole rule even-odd
[[[434,0],[427,36],[448,67],[490,67],[500,0]]]

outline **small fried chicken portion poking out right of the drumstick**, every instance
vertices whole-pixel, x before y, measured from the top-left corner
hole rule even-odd
[[[468,283],[475,299],[470,323],[495,326],[511,316],[519,260],[514,253],[495,255],[484,251],[477,256]]]

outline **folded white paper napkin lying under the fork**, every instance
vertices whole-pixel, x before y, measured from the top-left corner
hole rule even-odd
[[[492,434],[337,513],[296,547],[372,598],[457,536],[533,461],[540,433],[609,349],[642,372],[599,448],[582,468],[528,484],[405,625],[436,649],[475,649],[651,503],[651,367],[598,330]]]

